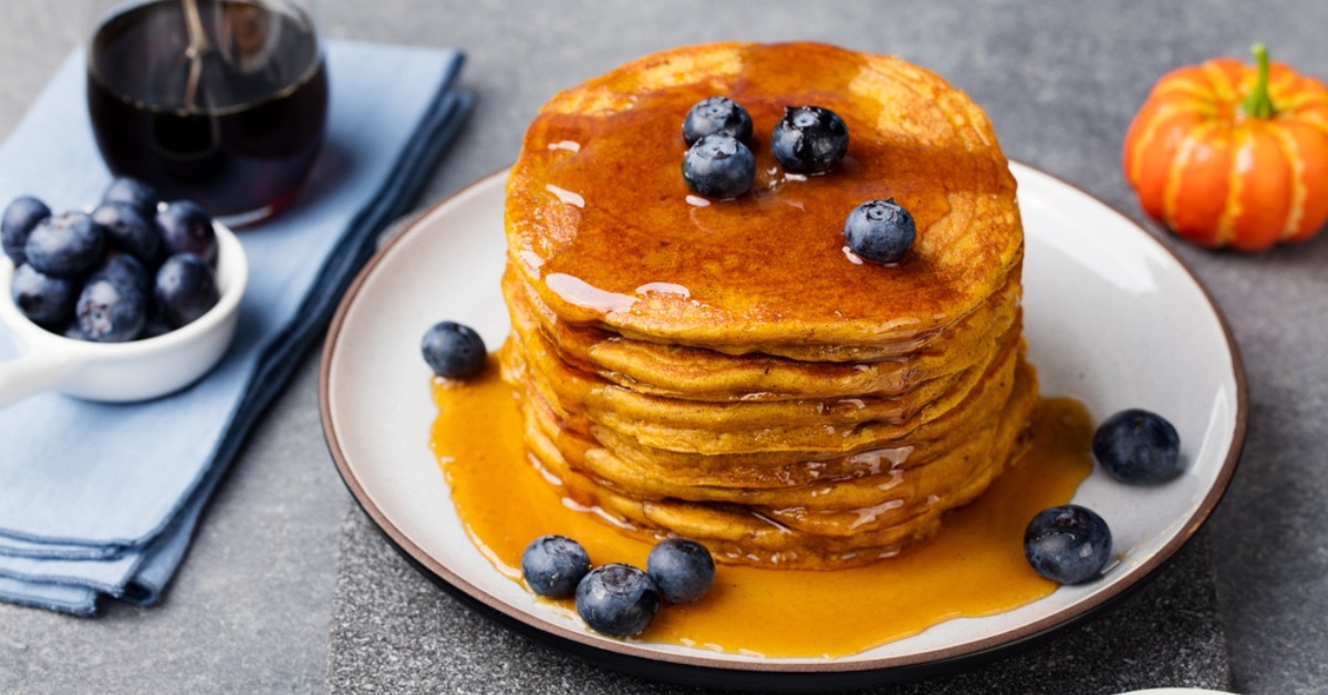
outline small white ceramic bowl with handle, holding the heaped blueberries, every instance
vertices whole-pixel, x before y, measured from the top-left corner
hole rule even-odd
[[[0,408],[46,389],[69,396],[126,403],[155,399],[193,384],[226,352],[235,336],[240,296],[248,282],[244,247],[216,223],[216,284],[220,299],[207,314],[169,334],[127,343],[64,338],[28,320],[13,303],[13,262],[0,256],[0,320],[21,356],[0,363]]]

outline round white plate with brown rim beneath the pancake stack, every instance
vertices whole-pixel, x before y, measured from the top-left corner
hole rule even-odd
[[[505,173],[416,219],[343,299],[321,365],[323,424],[337,468],[388,538],[449,593],[509,627],[645,675],[753,687],[769,674],[781,687],[798,678],[855,687],[961,666],[1072,625],[1135,587],[1207,520],[1244,440],[1244,372],[1220,311],[1165,246],[1061,181],[1017,163],[1012,170],[1027,234],[1025,335],[1042,392],[1077,397],[1097,419],[1130,407],[1163,413],[1187,461],[1186,473],[1162,486],[1125,486],[1094,472],[1080,488],[1074,501],[1109,520],[1123,551],[1101,581],[829,660],[623,642],[542,609],[481,557],[448,502],[428,448],[436,409],[420,356],[425,330],[442,319],[469,323],[490,346],[509,331],[498,291]]]

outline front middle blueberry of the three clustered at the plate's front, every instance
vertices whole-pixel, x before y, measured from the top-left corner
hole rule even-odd
[[[655,582],[631,565],[602,565],[576,585],[576,613],[596,633],[637,635],[659,610]]]

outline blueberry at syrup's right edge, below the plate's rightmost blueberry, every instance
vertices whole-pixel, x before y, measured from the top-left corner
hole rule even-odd
[[[1080,583],[1102,573],[1112,559],[1112,529],[1092,509],[1064,505],[1044,509],[1024,532],[1024,557],[1037,574]]]

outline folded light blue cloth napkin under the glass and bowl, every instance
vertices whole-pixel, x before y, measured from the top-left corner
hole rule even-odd
[[[235,343],[202,381],[149,403],[44,393],[0,411],[0,599],[76,614],[102,595],[159,599],[246,435],[470,112],[453,89],[462,60],[327,44],[327,142],[296,203],[240,233],[250,283]],[[32,194],[86,207],[109,182],[74,52],[0,145],[0,206]],[[0,359],[15,355],[0,326]]]

